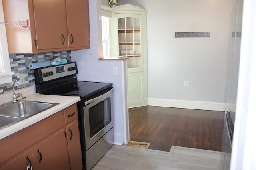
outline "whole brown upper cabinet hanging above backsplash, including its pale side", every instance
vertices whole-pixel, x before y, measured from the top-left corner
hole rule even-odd
[[[30,28],[6,24],[9,53],[90,48],[88,0],[2,0],[2,3],[6,22],[28,20]]]

